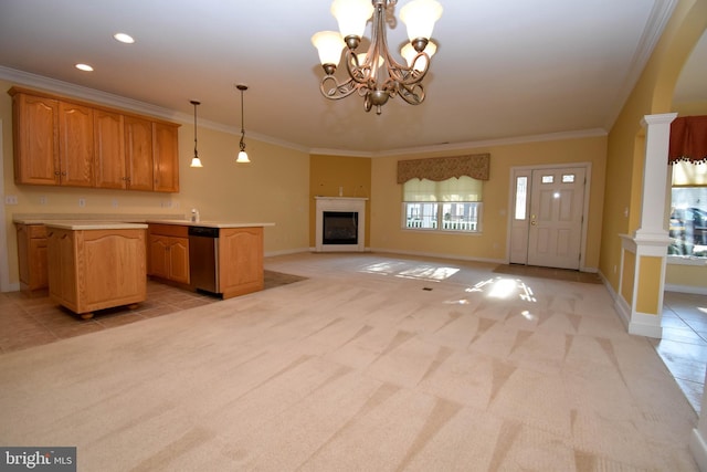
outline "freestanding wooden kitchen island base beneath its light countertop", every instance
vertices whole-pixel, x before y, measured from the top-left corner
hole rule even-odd
[[[48,229],[49,293],[83,318],[147,295],[145,230]]]

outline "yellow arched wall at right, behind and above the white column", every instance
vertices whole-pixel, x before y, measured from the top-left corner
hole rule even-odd
[[[614,271],[621,259],[619,234],[629,234],[640,224],[644,156],[641,120],[645,115],[673,112],[675,83],[706,28],[707,0],[678,1],[665,32],[609,134],[599,269],[614,290],[619,286],[619,274]],[[629,208],[627,217],[624,214],[625,208]],[[704,279],[707,280],[707,276]],[[669,280],[666,282],[671,283]]]

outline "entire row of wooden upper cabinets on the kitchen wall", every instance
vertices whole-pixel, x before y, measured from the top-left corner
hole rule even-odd
[[[12,87],[17,183],[179,191],[179,125]]]

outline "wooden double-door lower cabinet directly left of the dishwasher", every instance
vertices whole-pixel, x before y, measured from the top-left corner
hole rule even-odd
[[[148,274],[177,284],[189,284],[187,227],[150,224]]]

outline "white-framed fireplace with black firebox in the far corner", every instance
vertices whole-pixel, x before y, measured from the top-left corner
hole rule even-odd
[[[366,249],[367,198],[315,197],[317,252]]]

